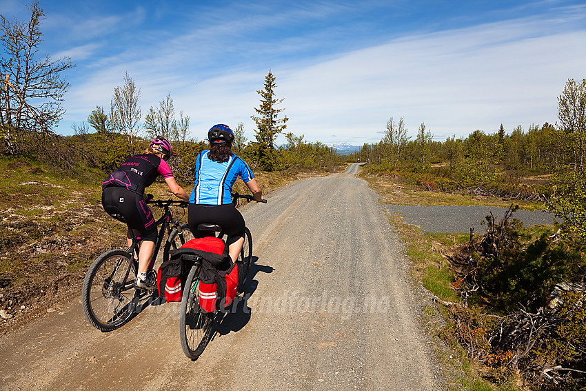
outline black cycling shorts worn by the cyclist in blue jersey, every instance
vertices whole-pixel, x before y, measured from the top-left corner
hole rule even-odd
[[[190,203],[188,208],[188,223],[191,232],[197,237],[197,225],[212,223],[220,225],[223,232],[230,235],[228,245],[244,236],[244,217],[233,203],[225,205],[200,205]]]

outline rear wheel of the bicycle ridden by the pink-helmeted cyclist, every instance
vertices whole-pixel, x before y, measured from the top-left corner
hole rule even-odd
[[[81,304],[94,328],[108,332],[132,319],[137,267],[125,250],[104,252],[90,265],[83,279]]]

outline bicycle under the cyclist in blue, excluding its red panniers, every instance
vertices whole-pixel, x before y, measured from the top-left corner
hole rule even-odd
[[[254,200],[249,194],[238,194],[233,193],[232,198],[234,201],[237,199],[246,199],[247,201]],[[266,203],[267,200],[263,200]],[[222,228],[219,225],[211,223],[202,223],[198,225],[199,231],[216,232],[217,237],[223,239],[225,234],[222,232]],[[202,353],[208,342],[212,338],[214,319],[218,311],[205,312],[199,306],[199,271],[201,268],[201,257],[196,255],[190,257],[192,266],[185,280],[185,287],[183,288],[183,297],[181,298],[181,308],[179,310],[179,339],[181,341],[181,348],[185,353],[185,356],[192,360],[196,360]],[[245,228],[244,243],[242,250],[236,260],[240,267],[242,265],[243,277],[239,276],[239,282],[241,285],[237,289],[237,294],[244,292],[244,286],[248,273],[250,272],[250,265],[252,264],[252,235],[250,230]]]

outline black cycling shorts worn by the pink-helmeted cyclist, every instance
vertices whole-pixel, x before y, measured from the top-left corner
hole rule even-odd
[[[120,214],[142,240],[156,241],[156,225],[147,203],[139,194],[125,188],[110,186],[102,191],[102,206],[106,213]],[[128,237],[130,236],[128,232]]]

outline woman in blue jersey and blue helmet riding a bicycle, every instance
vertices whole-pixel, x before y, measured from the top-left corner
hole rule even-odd
[[[190,230],[196,234],[199,223],[220,225],[230,234],[230,257],[236,261],[244,243],[244,218],[232,203],[232,186],[238,177],[244,181],[257,202],[263,192],[248,165],[230,149],[234,132],[223,124],[208,131],[210,149],[202,151],[195,163],[195,186],[188,208]]]

